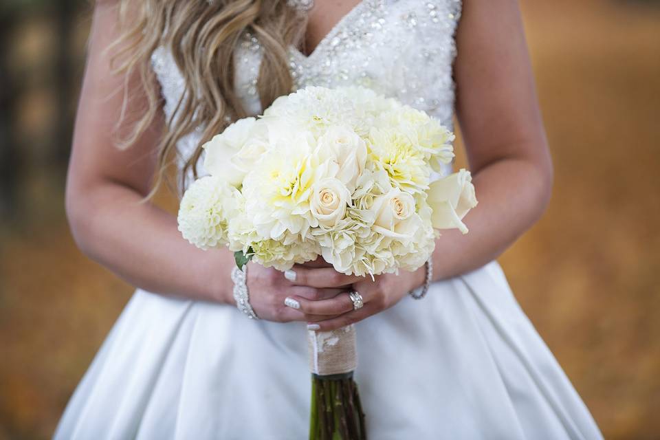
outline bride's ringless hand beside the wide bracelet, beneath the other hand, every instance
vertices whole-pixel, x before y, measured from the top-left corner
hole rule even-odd
[[[250,305],[256,316],[275,322],[309,322],[334,318],[343,313],[340,311],[334,315],[325,314],[315,317],[296,309],[296,305],[300,307],[301,302],[322,302],[336,298],[347,292],[351,283],[358,279],[355,276],[340,274],[332,267],[325,267],[321,263],[310,263],[310,265],[314,265],[315,268],[301,265],[293,271],[287,271],[285,275],[272,267],[249,263],[248,292],[250,292]],[[294,277],[292,274],[298,276]],[[285,305],[287,298],[290,298],[287,301],[289,307]]]

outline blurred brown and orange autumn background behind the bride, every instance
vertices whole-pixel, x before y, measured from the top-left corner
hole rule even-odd
[[[0,3],[0,439],[51,436],[132,292],[63,209],[90,4]],[[659,439],[660,2],[521,8],[555,188],[500,263],[605,437]]]

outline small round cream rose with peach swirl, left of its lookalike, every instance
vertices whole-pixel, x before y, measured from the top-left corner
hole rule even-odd
[[[309,208],[311,215],[325,228],[333,228],[344,218],[351,192],[334,177],[326,177],[312,187]]]

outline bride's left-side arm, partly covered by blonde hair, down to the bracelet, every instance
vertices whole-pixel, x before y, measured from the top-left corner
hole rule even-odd
[[[181,239],[171,214],[142,202],[155,173],[163,116],[135,145],[115,146],[124,92],[130,96],[129,114],[146,108],[146,97],[137,74],[128,78],[128,89],[123,76],[111,74],[107,47],[118,38],[113,3],[96,5],[76,117],[66,192],[74,239],[91,259],[137,287],[229,302],[230,252],[197,250]]]

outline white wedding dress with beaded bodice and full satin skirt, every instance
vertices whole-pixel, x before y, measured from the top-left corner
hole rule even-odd
[[[452,124],[457,0],[364,0],[305,56],[296,85],[358,84]],[[261,47],[245,36],[236,87],[261,111]],[[183,80],[153,66],[171,115]],[[184,157],[199,133],[181,140]],[[137,290],[76,389],[56,439],[305,439],[305,323]],[[370,439],[600,439],[593,418],[496,262],[432,284],[357,325]]]

